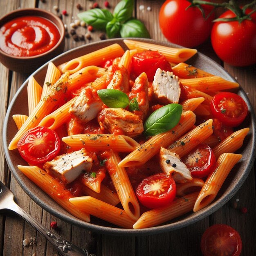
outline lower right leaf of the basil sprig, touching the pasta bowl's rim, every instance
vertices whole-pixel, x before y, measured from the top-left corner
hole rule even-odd
[[[126,23],[122,24],[120,30],[121,37],[142,37],[150,38],[148,29],[145,25],[136,19],[128,20]]]

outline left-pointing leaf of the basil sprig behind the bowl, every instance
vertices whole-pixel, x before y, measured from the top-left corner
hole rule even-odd
[[[94,29],[99,30],[105,30],[107,23],[113,19],[113,15],[110,11],[99,8],[78,13],[77,16],[80,20],[92,25]]]

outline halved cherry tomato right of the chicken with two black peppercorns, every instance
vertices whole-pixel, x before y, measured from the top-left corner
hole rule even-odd
[[[209,146],[199,144],[182,158],[182,162],[186,164],[192,176],[206,177],[213,170],[216,158]]]

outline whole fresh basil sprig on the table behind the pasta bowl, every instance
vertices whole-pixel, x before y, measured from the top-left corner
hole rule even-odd
[[[78,17],[94,29],[105,30],[108,38],[142,37],[150,38],[145,25],[132,18],[134,0],[121,0],[113,14],[107,9],[95,8],[78,14]]]

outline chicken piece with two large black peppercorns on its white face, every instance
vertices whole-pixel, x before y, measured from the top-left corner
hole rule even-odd
[[[192,180],[189,169],[180,160],[179,155],[163,147],[160,149],[160,167],[167,175],[173,175],[172,177],[177,183],[186,183]]]

